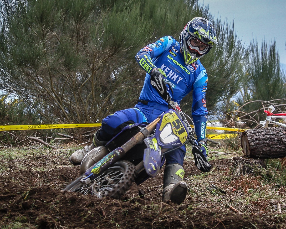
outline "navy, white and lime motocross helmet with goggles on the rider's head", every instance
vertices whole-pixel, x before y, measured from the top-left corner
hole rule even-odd
[[[214,44],[218,44],[215,28],[203,17],[194,17],[180,34],[180,48],[186,65],[207,54]]]

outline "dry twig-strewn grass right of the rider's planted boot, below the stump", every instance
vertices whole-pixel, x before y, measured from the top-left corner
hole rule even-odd
[[[278,174],[277,174],[278,175]],[[194,200],[194,206],[210,207],[217,210],[229,210],[234,207],[245,215],[263,217],[286,216],[286,198],[283,187],[277,187],[277,182],[265,181],[262,176],[253,175],[233,178],[230,166],[219,171],[213,169],[207,174],[187,177],[189,195]],[[282,214],[277,213],[277,203],[283,206]]]

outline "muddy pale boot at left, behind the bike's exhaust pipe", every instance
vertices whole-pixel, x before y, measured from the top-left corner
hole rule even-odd
[[[72,163],[73,165],[80,165],[80,163],[82,162],[82,159],[84,159],[84,156],[89,151],[91,151],[92,149],[94,149],[97,146],[106,145],[106,143],[108,143],[107,141],[100,141],[100,140],[98,140],[98,133],[99,133],[99,131],[100,130],[96,131],[96,133],[94,134],[93,142],[92,142],[91,145],[87,145],[83,149],[77,150],[76,152],[74,152],[69,157],[70,163]]]

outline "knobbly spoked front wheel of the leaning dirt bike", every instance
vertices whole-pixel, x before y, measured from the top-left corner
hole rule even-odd
[[[81,175],[67,185],[63,191],[78,192],[98,198],[109,196],[118,199],[132,186],[136,172],[135,166],[130,161],[118,161],[88,185],[80,181],[84,177],[86,175]]]

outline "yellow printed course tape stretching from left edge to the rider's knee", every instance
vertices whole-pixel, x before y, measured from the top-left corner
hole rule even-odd
[[[34,130],[34,129],[60,129],[60,128],[78,128],[78,127],[100,127],[98,123],[87,124],[51,124],[51,125],[10,125],[0,126],[0,131],[16,131],[16,130]]]

